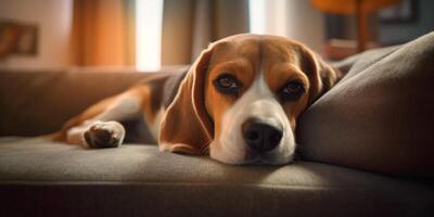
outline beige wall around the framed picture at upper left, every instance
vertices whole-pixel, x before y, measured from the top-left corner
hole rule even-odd
[[[9,56],[0,69],[60,68],[69,65],[73,0],[0,0],[0,21],[36,24],[37,56]]]

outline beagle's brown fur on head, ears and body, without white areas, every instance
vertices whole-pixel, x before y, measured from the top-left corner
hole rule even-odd
[[[302,43],[276,36],[238,35],[212,43],[196,59],[186,77],[181,80],[175,98],[169,103],[165,98],[164,86],[170,76],[149,79],[118,95],[102,100],[68,120],[63,129],[54,135],[66,141],[66,132],[80,126],[124,98],[140,102],[142,115],[148,124],[156,122],[156,114],[164,110],[159,127],[159,148],[171,152],[204,154],[215,135],[221,132],[221,118],[225,111],[237,98],[221,95],[212,81],[222,72],[233,73],[243,84],[241,94],[255,79],[258,68],[265,69],[265,80],[276,92],[290,78],[297,78],[308,92],[296,102],[282,104],[292,128],[302,112],[320,94],[330,89],[341,77],[341,73],[326,64]],[[175,86],[178,87],[178,86]],[[116,119],[118,120],[118,119]]]

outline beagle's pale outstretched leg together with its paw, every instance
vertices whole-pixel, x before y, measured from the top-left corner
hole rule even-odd
[[[119,122],[142,114],[145,88],[135,88],[90,106],[65,125],[64,140],[91,149],[119,146],[125,138]]]

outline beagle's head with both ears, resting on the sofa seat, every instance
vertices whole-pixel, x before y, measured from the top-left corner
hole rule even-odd
[[[228,164],[289,163],[297,117],[337,79],[339,72],[293,40],[221,39],[182,80],[163,117],[159,146]]]

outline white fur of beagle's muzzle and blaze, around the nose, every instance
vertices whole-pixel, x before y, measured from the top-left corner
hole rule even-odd
[[[252,117],[283,126],[282,139],[275,150],[260,155],[250,151],[242,136],[242,125]],[[267,86],[263,72],[248,90],[225,112],[221,122],[221,133],[209,145],[210,157],[228,164],[285,164],[292,161],[295,150],[294,132],[282,105]]]

